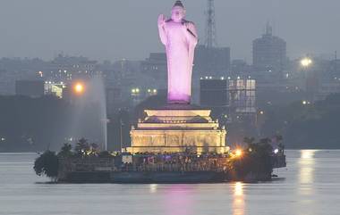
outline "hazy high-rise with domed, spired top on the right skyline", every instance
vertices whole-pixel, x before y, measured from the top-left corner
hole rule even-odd
[[[252,42],[252,64],[254,71],[282,72],[287,64],[285,40],[273,36],[272,27],[267,24],[262,37]]]

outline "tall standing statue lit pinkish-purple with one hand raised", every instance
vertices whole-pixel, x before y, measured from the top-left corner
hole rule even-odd
[[[191,75],[198,35],[193,22],[184,20],[185,9],[176,1],[171,19],[161,14],[158,17],[160,40],[166,45],[167,102],[191,102]]]

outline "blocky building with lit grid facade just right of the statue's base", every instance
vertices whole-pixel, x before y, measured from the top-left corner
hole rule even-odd
[[[257,114],[255,79],[200,79],[200,105],[226,122],[255,123]]]

